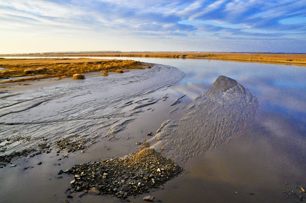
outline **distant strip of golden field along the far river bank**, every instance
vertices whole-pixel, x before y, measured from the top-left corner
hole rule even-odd
[[[23,56],[29,56],[29,55],[23,55]],[[262,62],[306,65],[306,54],[143,52],[143,53],[102,53],[102,54],[48,54],[48,55],[31,55],[31,56],[198,58],[198,59],[219,59],[219,60],[222,59],[222,60],[240,60],[240,61],[262,61]]]

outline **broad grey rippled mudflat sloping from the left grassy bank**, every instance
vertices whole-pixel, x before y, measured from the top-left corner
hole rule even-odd
[[[155,65],[1,94],[0,161],[5,164],[12,158],[35,156],[51,149],[86,149],[99,137],[118,139],[116,132],[136,119],[144,111],[142,107],[167,97],[150,98],[150,93],[172,86],[183,77],[177,68]],[[61,144],[63,140],[69,142]]]

